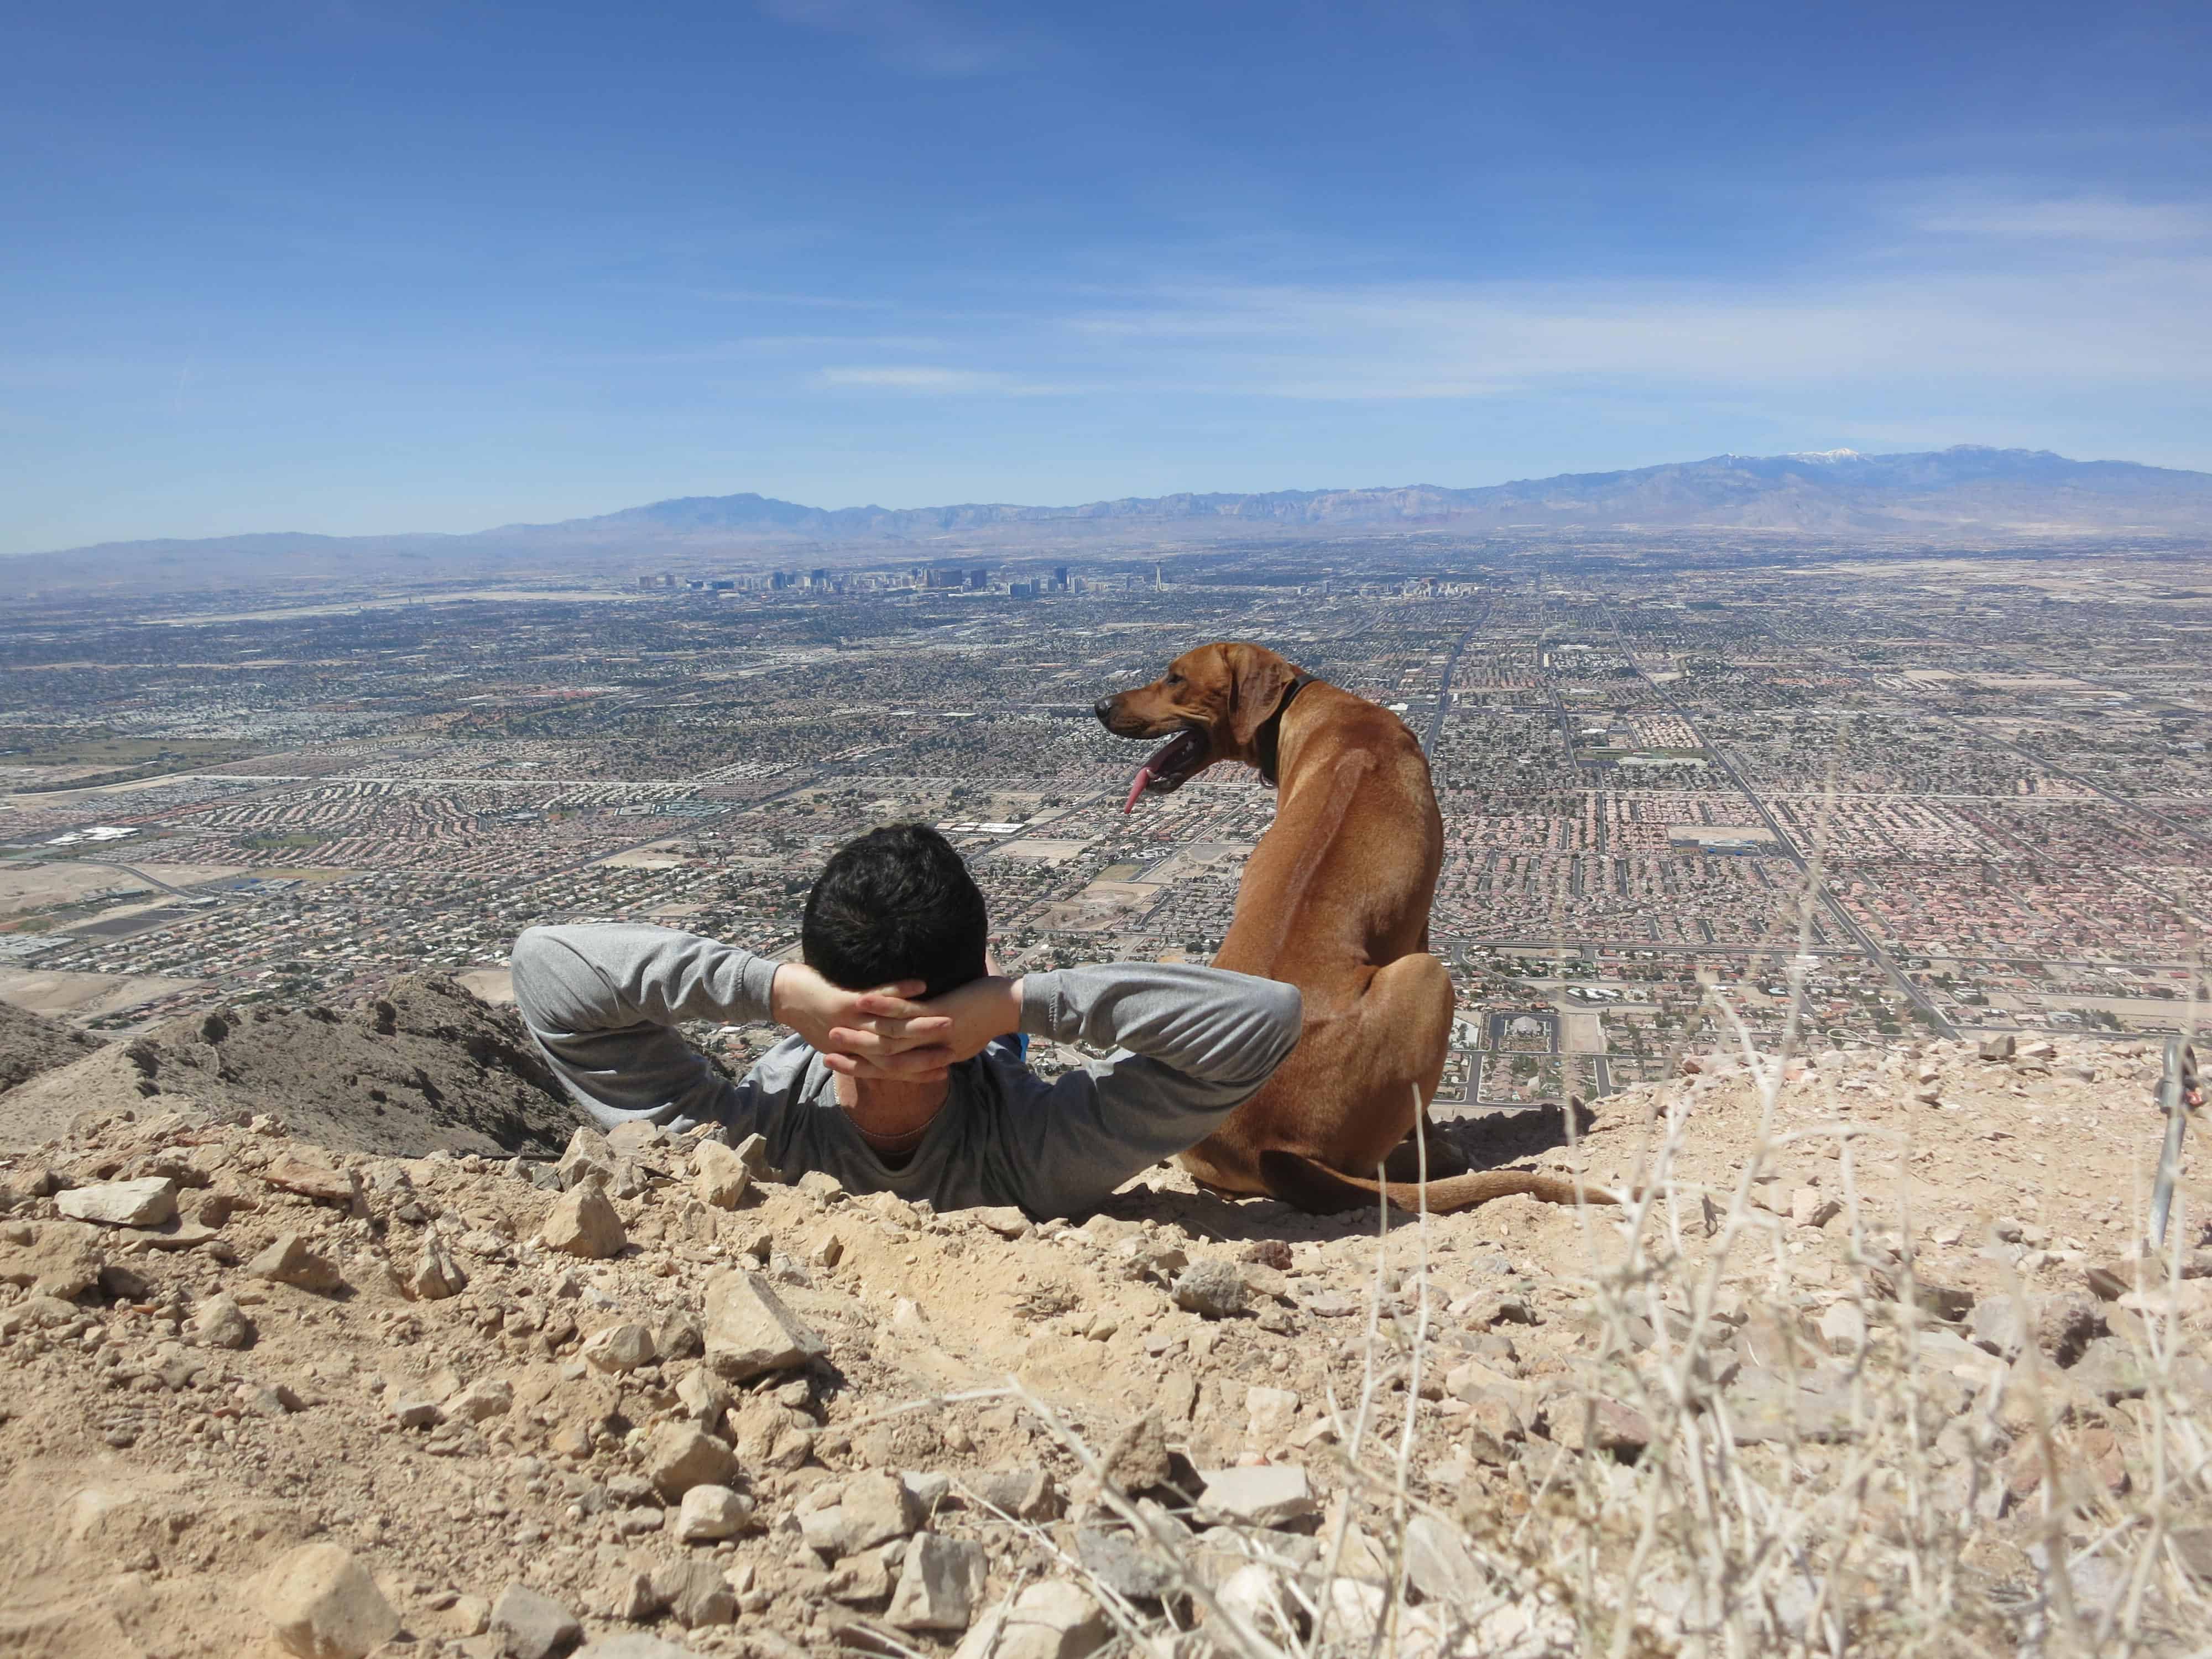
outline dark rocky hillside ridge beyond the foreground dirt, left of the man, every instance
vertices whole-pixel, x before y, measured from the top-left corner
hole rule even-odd
[[[38,1015],[7,1013],[0,1077],[22,1064],[29,1079],[0,1097],[0,1148],[38,1146],[84,1113],[122,1108],[279,1113],[321,1146],[385,1155],[557,1152],[582,1121],[513,1009],[436,973],[394,980],[343,1013],[268,1002],[195,1013],[69,1051],[66,1066],[53,1064],[53,1044],[15,1040]]]

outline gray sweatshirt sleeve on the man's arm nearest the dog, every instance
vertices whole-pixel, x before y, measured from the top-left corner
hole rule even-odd
[[[1022,1031],[1115,1046],[1009,1124],[1024,1208],[1088,1210],[1203,1141],[1283,1064],[1298,1018],[1296,987],[1225,969],[1115,962],[1024,975]]]

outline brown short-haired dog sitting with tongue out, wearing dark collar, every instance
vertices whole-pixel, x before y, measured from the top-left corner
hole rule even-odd
[[[1440,1159],[1467,1168],[1427,1121],[1451,1046],[1451,975],[1429,956],[1444,823],[1420,743],[1389,710],[1248,644],[1188,650],[1095,712],[1115,737],[1170,739],[1137,772],[1128,807],[1214,761],[1254,765],[1281,792],[1214,967],[1296,984],[1305,1029],[1267,1086],[1183,1152],[1183,1168],[1210,1188],[1301,1210],[1349,1210],[1378,1192],[1416,1208],[1400,1152],[1413,1150],[1416,1128],[1431,1172]],[[1400,1179],[1376,1179],[1385,1164]],[[1429,1208],[1509,1192],[1575,1201],[1573,1181],[1486,1170],[1431,1179]]]

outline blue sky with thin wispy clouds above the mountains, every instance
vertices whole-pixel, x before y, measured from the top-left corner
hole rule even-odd
[[[2212,469],[2203,4],[7,13],[0,551]]]

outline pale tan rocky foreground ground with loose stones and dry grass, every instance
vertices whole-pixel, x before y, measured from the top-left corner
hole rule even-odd
[[[2212,1259],[2194,1201],[2130,1250],[2154,1077],[1697,1057],[1573,1146],[1455,1130],[1639,1203],[1387,1237],[102,1097],[0,1157],[0,1650],[2181,1652]]]

